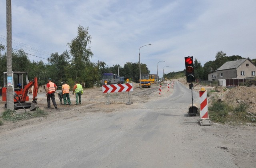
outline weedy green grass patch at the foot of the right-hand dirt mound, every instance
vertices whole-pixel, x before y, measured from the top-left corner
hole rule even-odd
[[[249,105],[246,103],[240,103],[234,107],[222,101],[214,101],[208,109],[211,121],[238,125],[241,123],[255,123],[255,120],[253,121],[250,117],[246,117],[248,116],[248,107]]]

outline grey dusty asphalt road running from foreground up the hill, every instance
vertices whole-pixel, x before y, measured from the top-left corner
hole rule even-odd
[[[198,103],[198,93],[193,93]],[[238,167],[210,126],[187,117],[191,90],[176,82],[167,98],[138,109],[88,113],[1,135],[2,168]],[[132,105],[131,105],[132,106]]]

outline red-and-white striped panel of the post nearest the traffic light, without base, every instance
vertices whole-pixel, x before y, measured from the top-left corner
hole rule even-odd
[[[199,103],[200,103],[200,119],[209,119],[207,90],[201,89],[199,91]]]

